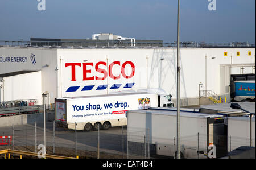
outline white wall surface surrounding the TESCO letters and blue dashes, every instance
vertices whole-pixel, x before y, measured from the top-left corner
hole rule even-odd
[[[236,56],[237,52],[240,56]],[[251,51],[251,55],[248,52]],[[34,96],[42,99],[41,94],[48,92],[50,102],[54,102],[55,97],[75,97],[89,96],[97,94],[108,94],[119,90],[137,90],[141,88],[162,88],[167,93],[172,94],[176,98],[176,48],[135,48],[135,49],[44,49],[44,48],[16,48],[16,47],[0,47],[0,57],[25,56],[27,61],[24,63],[0,62],[0,74],[17,72],[17,71],[34,71],[39,70],[39,77],[27,77],[28,74],[20,74],[17,77],[5,77],[5,93],[7,99],[22,98],[20,94],[27,97]],[[224,56],[224,52],[228,52]],[[31,53],[36,56],[36,64],[32,64],[30,59]],[[231,57],[232,55],[232,57]],[[205,58],[205,56],[207,56]],[[115,64],[112,68],[114,76],[120,76],[117,80],[110,78],[109,75],[105,80],[83,80],[82,63],[93,63],[88,66],[88,77],[102,77],[103,73],[95,70],[98,61],[108,63],[120,61],[120,65]],[[121,74],[121,65],[126,61],[132,61],[135,65],[134,76],[131,78],[123,78]],[[205,61],[206,64],[205,65]],[[65,67],[66,63],[81,63],[81,67],[76,66],[76,81],[71,81],[71,67]],[[199,83],[204,84],[204,88],[212,90],[220,95],[220,65],[221,64],[252,64],[255,63],[255,48],[181,48],[180,49],[180,97],[181,98],[198,98]],[[205,70],[205,66],[207,70]],[[108,67],[100,65],[99,68],[108,71]],[[240,70],[233,69],[233,73]],[[250,73],[251,68],[246,68],[245,73]],[[125,73],[130,75],[132,72],[129,64],[125,67]],[[255,72],[255,71],[254,71]],[[30,73],[29,73],[30,74]],[[24,77],[18,78],[18,77]],[[205,78],[206,77],[206,78]],[[21,80],[22,79],[22,80]],[[205,80],[206,79],[206,80]],[[15,91],[16,84],[20,80],[23,82],[31,82],[23,86],[23,92]],[[40,82],[40,90],[38,90]],[[126,83],[133,83],[134,86],[124,89]],[[36,86],[35,90],[32,84]],[[104,90],[96,90],[98,85],[108,84],[108,88]],[[113,84],[122,84],[118,89],[110,89]],[[92,90],[82,91],[84,86],[94,85]],[[76,92],[66,92],[71,86],[79,86]],[[19,89],[19,88],[16,88]],[[18,93],[18,94],[15,94]],[[33,93],[33,94],[32,94]],[[24,99],[23,97],[23,99]],[[47,98],[48,100],[48,98]],[[47,103],[49,101],[46,101]]]

